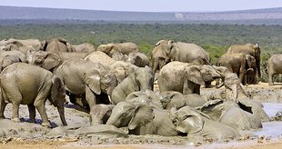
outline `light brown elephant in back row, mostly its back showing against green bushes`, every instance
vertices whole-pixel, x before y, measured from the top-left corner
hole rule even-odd
[[[106,55],[109,55],[112,57],[113,54],[116,52],[122,53],[123,55],[128,55],[130,53],[136,53],[139,52],[139,47],[138,45],[134,43],[121,43],[121,44],[106,44],[106,45],[99,45],[97,47],[97,51],[102,51]]]

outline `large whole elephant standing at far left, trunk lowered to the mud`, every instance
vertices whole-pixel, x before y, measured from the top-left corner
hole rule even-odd
[[[62,123],[67,125],[64,107],[65,89],[57,75],[35,65],[17,63],[7,66],[0,77],[1,118],[5,118],[5,105],[12,103],[12,120],[19,122],[19,105],[27,104],[31,122],[35,122],[35,109],[37,109],[43,120],[42,125],[50,126],[45,110],[45,101],[48,99],[57,107]]]

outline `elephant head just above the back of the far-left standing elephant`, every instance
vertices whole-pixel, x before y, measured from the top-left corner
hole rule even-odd
[[[55,53],[45,51],[27,51],[27,61],[31,65],[38,65],[52,72],[52,70],[61,64],[61,59]]]

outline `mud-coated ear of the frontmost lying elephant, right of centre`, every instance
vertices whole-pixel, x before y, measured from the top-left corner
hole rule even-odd
[[[176,126],[176,130],[181,133],[196,134],[203,129],[205,124],[204,118],[193,110],[183,115],[183,117],[177,118],[179,124]]]

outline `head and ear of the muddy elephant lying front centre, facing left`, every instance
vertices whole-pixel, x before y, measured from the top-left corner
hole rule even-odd
[[[136,105],[129,102],[119,102],[112,110],[112,114],[106,124],[112,124],[116,127],[128,126],[130,120],[135,114]]]

